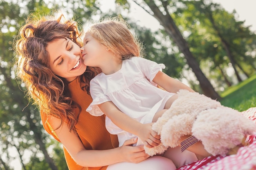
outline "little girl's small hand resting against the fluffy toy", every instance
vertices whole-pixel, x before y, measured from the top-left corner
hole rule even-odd
[[[138,129],[138,137],[141,139],[143,144],[148,148],[153,148],[161,143],[160,136],[157,132],[152,130],[152,124],[141,124],[141,128]]]

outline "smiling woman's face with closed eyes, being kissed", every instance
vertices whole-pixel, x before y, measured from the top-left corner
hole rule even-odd
[[[46,51],[50,57],[50,69],[55,75],[72,82],[85,72],[86,66],[83,64],[81,49],[73,41],[59,39],[50,42]]]

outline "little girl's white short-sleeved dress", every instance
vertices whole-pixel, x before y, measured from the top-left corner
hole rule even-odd
[[[91,115],[101,116],[98,104],[112,101],[121,112],[142,124],[151,123],[155,113],[164,109],[166,101],[174,95],[160,88],[153,82],[164,64],[132,57],[124,60],[121,69],[111,75],[100,73],[90,82],[92,103],[86,109]],[[119,146],[127,139],[136,137],[117,127],[106,117],[106,128],[111,134],[117,134]],[[137,145],[142,142],[138,140]]]

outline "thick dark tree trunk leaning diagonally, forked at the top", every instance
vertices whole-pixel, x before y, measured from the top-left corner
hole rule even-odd
[[[126,0],[117,0],[116,2],[120,3],[127,3]],[[159,23],[164,27],[164,30],[173,40],[173,43],[175,43],[178,48],[180,49],[181,53],[183,53],[184,58],[186,59],[187,64],[192,69],[193,73],[195,73],[196,78],[198,79],[198,82],[200,84],[201,90],[204,93],[204,95],[211,97],[212,99],[220,99],[220,96],[218,93],[216,93],[215,89],[213,88],[212,84],[209,82],[207,77],[204,75],[202,70],[200,69],[200,66],[198,62],[196,62],[195,57],[190,51],[190,47],[188,42],[184,39],[182,33],[180,32],[180,29],[175,24],[175,21],[173,20],[173,16],[175,13],[173,12],[173,7],[179,7],[178,5],[181,4],[181,2],[176,0],[143,0],[137,2],[136,0],[133,0],[136,4],[138,4],[140,7],[142,7],[145,11],[152,14]],[[182,6],[182,5],[181,5]]]

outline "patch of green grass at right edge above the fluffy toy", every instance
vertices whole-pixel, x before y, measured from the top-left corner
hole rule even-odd
[[[223,106],[228,106],[238,111],[256,107],[256,75],[235,86],[231,86],[220,96],[222,97],[220,103]]]

